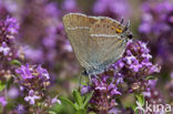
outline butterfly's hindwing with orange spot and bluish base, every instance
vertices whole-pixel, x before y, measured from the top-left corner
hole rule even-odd
[[[116,33],[118,28],[124,29],[115,20],[104,17],[100,17],[90,28],[89,61],[94,68],[89,73],[101,73],[122,56],[128,38],[121,38],[122,33]]]

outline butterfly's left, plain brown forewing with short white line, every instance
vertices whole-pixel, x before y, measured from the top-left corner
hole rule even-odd
[[[80,13],[69,13],[63,17],[64,30],[71,42],[75,56],[83,68],[90,66],[89,61],[89,31],[90,27],[96,21]]]

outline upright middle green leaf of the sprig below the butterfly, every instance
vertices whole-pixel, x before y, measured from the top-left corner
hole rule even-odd
[[[82,99],[81,94],[77,90],[73,90],[73,93],[72,94],[73,94],[74,101],[78,103],[78,105],[80,107],[82,107],[83,99]]]

